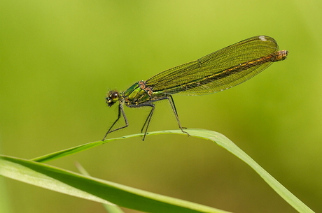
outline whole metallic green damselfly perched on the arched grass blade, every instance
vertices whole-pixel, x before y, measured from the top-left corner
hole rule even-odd
[[[274,38],[254,36],[195,61],[170,68],[148,80],[136,82],[126,91],[109,91],[106,103],[110,107],[116,102],[119,102],[119,105],[118,118],[106,135],[129,125],[123,108],[124,104],[129,108],[149,107],[151,111],[141,128],[141,133],[144,133],[142,140],[144,140],[155,110],[154,102],[161,100],[169,101],[179,128],[183,131],[172,94],[198,96],[229,89],[253,78],[273,62],[286,59],[287,54],[286,50],[279,51]],[[113,129],[121,116],[125,120],[125,126]],[[183,133],[187,132],[183,131]]]

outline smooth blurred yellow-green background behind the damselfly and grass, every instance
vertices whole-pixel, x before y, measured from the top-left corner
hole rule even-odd
[[[32,159],[100,140],[116,119],[109,89],[251,36],[286,61],[208,96],[174,96],[181,124],[223,133],[312,210],[322,212],[322,2],[0,1],[1,154]],[[139,133],[148,110],[125,109]],[[150,131],[178,128],[167,102]],[[185,135],[110,142],[50,162],[231,212],[295,212],[235,156]],[[104,212],[102,205],[0,177],[3,212]],[[125,212],[135,212],[126,210]]]

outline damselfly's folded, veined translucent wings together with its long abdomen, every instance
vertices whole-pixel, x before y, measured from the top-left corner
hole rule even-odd
[[[268,36],[255,36],[175,66],[146,80],[146,87],[163,94],[202,95],[239,85],[267,68],[286,59],[287,51]]]

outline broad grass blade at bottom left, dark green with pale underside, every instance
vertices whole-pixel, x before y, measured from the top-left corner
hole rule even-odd
[[[43,163],[9,156],[0,156],[0,175],[71,196],[108,203],[110,205],[115,203],[116,205],[142,212],[225,212],[185,200],[134,189],[94,177],[79,175],[76,172],[55,168]],[[111,203],[106,200],[109,200]]]

